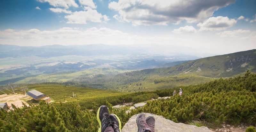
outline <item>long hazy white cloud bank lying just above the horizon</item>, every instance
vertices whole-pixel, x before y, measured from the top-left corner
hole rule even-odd
[[[209,35],[210,34],[210,35]],[[246,33],[248,34],[248,33]],[[246,35],[244,33],[244,35]],[[175,44],[179,46],[194,47],[200,51],[208,53],[231,53],[241,50],[255,49],[256,32],[251,33],[243,40],[240,37],[220,38],[215,33],[197,34],[172,34],[170,35],[136,35],[124,33],[120,30],[110,28],[92,27],[89,29],[63,27],[57,30],[0,30],[0,42],[4,44],[14,44],[20,46],[42,46],[42,45],[82,45],[82,44],[152,44],[159,46],[165,44]],[[243,43],[243,44],[241,44]],[[172,46],[170,46],[171,48]],[[219,47],[222,47],[221,49]],[[172,47],[173,48],[173,47]],[[166,48],[165,49],[169,49]]]

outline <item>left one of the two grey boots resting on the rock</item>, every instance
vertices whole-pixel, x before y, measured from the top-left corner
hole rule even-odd
[[[140,113],[137,117],[137,126],[138,126],[138,132],[151,132],[151,130],[148,127],[146,120],[145,120],[145,114]]]

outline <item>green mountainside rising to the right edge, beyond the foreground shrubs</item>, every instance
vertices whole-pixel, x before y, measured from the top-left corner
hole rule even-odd
[[[220,77],[234,77],[246,70],[256,72],[256,50],[196,59],[167,68],[77,77],[66,84],[118,91],[145,91],[202,84]]]

